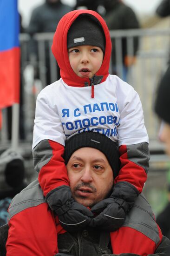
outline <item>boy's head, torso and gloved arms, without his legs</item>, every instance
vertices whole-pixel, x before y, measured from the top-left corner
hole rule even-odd
[[[86,225],[116,230],[147,178],[148,135],[141,101],[130,85],[108,73],[111,38],[98,13],[65,14],[54,34],[52,52],[61,78],[38,95],[33,132],[40,186],[67,231]],[[121,162],[110,198],[91,211],[73,200],[63,159],[65,140],[85,131],[117,141]]]

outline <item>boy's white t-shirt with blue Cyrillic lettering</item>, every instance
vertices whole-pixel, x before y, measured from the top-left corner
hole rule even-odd
[[[59,81],[38,95],[33,130],[33,148],[49,139],[65,145],[78,132],[104,134],[118,145],[149,142],[142,104],[137,92],[116,75],[90,87],[71,87]]]

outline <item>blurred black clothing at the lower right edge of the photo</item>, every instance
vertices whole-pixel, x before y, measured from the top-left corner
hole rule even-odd
[[[157,224],[162,230],[164,236],[170,239],[170,184],[167,188],[168,202],[163,211],[157,216]]]

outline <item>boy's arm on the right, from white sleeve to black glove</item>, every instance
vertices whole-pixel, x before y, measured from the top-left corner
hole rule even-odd
[[[124,86],[126,87],[126,83]],[[110,227],[118,229],[124,222],[126,213],[141,193],[147,179],[150,153],[148,135],[144,127],[142,104],[133,88],[126,94],[121,93],[118,102],[120,125],[118,127],[120,171],[114,179],[114,188],[110,198],[107,198],[92,208],[92,212],[101,212],[93,219],[93,226],[101,229]]]

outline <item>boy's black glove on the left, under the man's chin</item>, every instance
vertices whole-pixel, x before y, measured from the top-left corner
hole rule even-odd
[[[67,231],[78,231],[89,224],[92,212],[72,198],[70,187],[61,186],[50,191],[46,200],[50,208],[59,216],[61,226]]]

